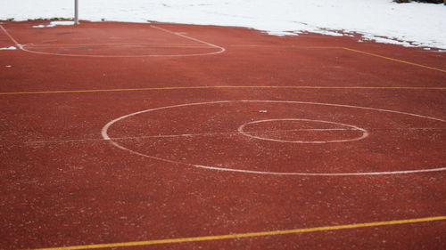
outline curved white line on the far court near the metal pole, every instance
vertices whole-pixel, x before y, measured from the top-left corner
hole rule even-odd
[[[91,54],[66,54],[66,53],[54,53],[54,52],[37,52],[37,51],[31,51],[27,48],[25,48],[27,46],[27,44],[19,44],[17,42],[17,40],[14,39],[14,37],[11,36],[11,34],[9,34],[9,32],[3,27],[3,25],[0,25],[0,28],[4,31],[4,33],[6,34],[6,36],[8,36],[12,42],[22,51],[24,52],[31,52],[31,53],[37,53],[37,54],[44,54],[44,55],[58,55],[58,56],[70,56],[70,57],[90,57],[90,58],[140,58],[140,57],[188,57],[188,56],[203,56],[203,55],[213,55],[213,54],[219,54],[222,52],[225,52],[226,49],[216,45],[216,44],[211,44],[208,42],[204,42],[200,39],[191,37],[191,36],[186,36],[184,34],[179,34],[177,32],[172,32],[168,29],[165,28],[159,28],[156,27],[154,25],[150,25],[151,28],[157,28],[161,31],[164,31],[166,33],[175,35],[175,36],[180,36],[180,37],[184,37],[186,39],[189,39],[191,41],[194,42],[198,42],[200,44],[205,44],[210,48],[214,48],[214,49],[218,49],[219,51],[217,52],[202,52],[202,53],[190,53],[190,54],[149,54],[149,55],[91,55]],[[194,47],[195,48],[195,47]],[[202,47],[204,48],[204,47]],[[207,47],[206,47],[207,48]]]

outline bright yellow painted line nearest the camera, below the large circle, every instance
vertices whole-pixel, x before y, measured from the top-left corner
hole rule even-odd
[[[61,247],[39,248],[39,249],[35,249],[35,250],[74,250],[74,249],[95,249],[95,248],[105,248],[105,247],[150,246],[150,245],[186,243],[186,242],[190,243],[190,242],[233,239],[233,238],[266,237],[266,236],[276,236],[276,235],[286,235],[286,234],[299,234],[299,233],[305,233],[305,232],[318,232],[318,231],[330,231],[330,230],[350,230],[350,229],[359,229],[359,228],[401,225],[401,224],[411,224],[411,223],[419,223],[419,222],[435,222],[435,221],[444,221],[444,220],[446,220],[446,216],[437,216],[437,217],[416,218],[416,219],[409,219],[409,220],[356,223],[356,224],[325,226],[325,227],[307,228],[307,229],[261,231],[261,232],[191,237],[191,238],[166,238],[166,239],[155,239],[155,240],[134,241],[134,242],[95,244],[95,245],[85,245],[85,246],[61,246]]]

